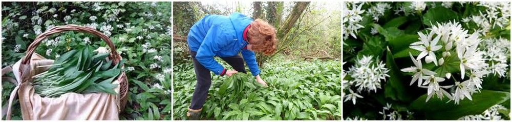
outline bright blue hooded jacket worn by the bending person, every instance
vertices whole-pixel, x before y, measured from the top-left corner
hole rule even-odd
[[[235,12],[230,16],[206,15],[196,22],[188,32],[187,42],[191,51],[197,52],[196,59],[206,69],[219,75],[224,70],[214,56],[231,57],[242,52],[242,57],[252,75],[260,74],[254,52],[243,49],[248,45],[243,38],[245,28],[252,18]]]

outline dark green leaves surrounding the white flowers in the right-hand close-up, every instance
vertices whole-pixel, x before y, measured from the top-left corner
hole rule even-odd
[[[383,9],[383,14],[376,21],[372,19],[370,9],[382,3],[389,4],[390,6]],[[425,102],[427,99],[427,89],[416,87],[416,84],[410,85],[413,73],[400,71],[400,69],[415,66],[409,57],[409,53],[412,53],[412,56],[420,54],[420,51],[410,48],[412,43],[420,41],[418,33],[430,32],[429,28],[437,25],[437,23],[457,22],[460,23],[462,28],[468,30],[470,34],[482,33],[479,35],[482,42],[478,50],[484,51],[488,50],[485,47],[488,43],[486,41],[491,41],[490,39],[493,38],[502,38],[506,42],[503,44],[509,45],[510,20],[508,19],[508,23],[502,25],[502,27],[490,25],[491,28],[485,30],[482,29],[483,25],[468,21],[473,19],[471,18],[472,16],[482,15],[481,13],[485,13],[489,9],[478,2],[453,2],[453,5],[450,4],[449,7],[444,2],[425,2],[426,8],[424,10],[414,10],[411,4],[413,3],[369,2],[357,4],[362,6],[361,10],[366,10],[364,13],[359,14],[362,18],[358,24],[364,26],[364,28],[356,29],[355,37],[349,35],[343,40],[343,62],[346,62],[343,69],[344,71],[350,70],[352,66],[357,64],[360,58],[370,55],[378,57],[378,60],[382,60],[390,71],[387,73],[389,77],[380,81],[381,89],[375,93],[373,91],[358,93],[362,98],[357,97],[355,104],[352,104],[352,99],[344,99],[348,100],[344,103],[344,118],[390,119],[393,118],[391,116],[394,116],[394,119],[459,119],[466,115],[482,114],[482,112],[492,106],[502,105],[507,110],[499,111],[498,114],[501,115],[502,119],[510,119],[510,66],[507,66],[506,70],[503,71],[504,76],[500,76],[497,73],[485,75],[482,78],[482,90],[473,93],[472,100],[463,99],[458,105],[454,105],[454,101],[446,97],[444,99],[432,97],[429,101]],[[510,10],[509,5],[508,3],[508,10]],[[354,7],[352,3],[349,3],[347,6],[349,10],[352,10],[350,7]],[[501,17],[504,15],[497,13],[495,16]],[[350,22],[344,22],[344,25],[348,23]],[[493,23],[497,22],[492,22],[491,24]],[[480,32],[482,30],[483,32]],[[496,43],[496,45],[499,44]],[[508,49],[503,50],[506,50],[506,53],[503,55],[506,58],[505,64],[508,65],[510,64],[510,51]],[[460,79],[459,70],[459,63],[462,61],[455,59],[457,57],[455,51],[451,53],[451,57],[454,58],[445,58],[444,65],[439,65],[439,67],[436,67],[434,63],[423,62],[423,68],[434,71],[437,73],[436,76],[452,73],[452,78],[448,77],[444,82],[439,83],[441,86],[463,82]],[[436,54],[438,57],[442,55],[437,52]],[[489,65],[493,64],[490,62],[486,63]],[[345,85],[346,81],[354,79],[348,73],[344,76],[343,80],[344,87],[347,87]],[[354,87],[357,88],[357,86]],[[344,93],[349,94],[349,89],[344,88]],[[355,91],[354,89],[352,90]],[[456,88],[454,87],[447,89],[447,92],[454,94],[455,90]]]

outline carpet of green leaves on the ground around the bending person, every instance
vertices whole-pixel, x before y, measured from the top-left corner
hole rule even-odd
[[[219,59],[221,60],[221,59]],[[228,66],[222,62],[224,66]],[[252,75],[212,77],[202,119],[341,119],[339,61],[274,60],[265,65],[263,87]],[[212,74],[214,75],[214,74]],[[186,119],[196,85],[190,63],[174,68],[174,117]]]

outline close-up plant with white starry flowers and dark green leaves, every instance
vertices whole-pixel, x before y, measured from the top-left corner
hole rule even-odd
[[[343,10],[345,119],[510,119],[510,2]]]

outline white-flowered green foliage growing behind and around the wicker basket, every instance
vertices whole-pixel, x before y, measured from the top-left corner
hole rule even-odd
[[[108,35],[126,62],[129,100],[120,119],[170,119],[170,2],[2,2],[2,66],[22,56],[37,34],[66,24]],[[49,37],[36,53],[55,59],[79,46],[106,47],[97,36],[65,32]],[[14,85],[2,83],[5,105]],[[13,119],[20,119],[14,104]]]

